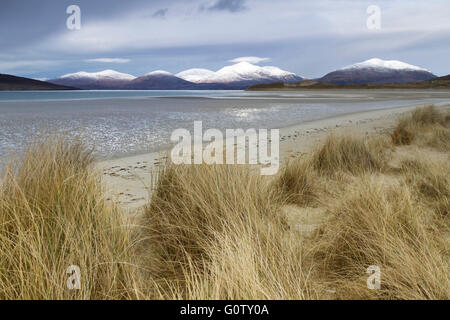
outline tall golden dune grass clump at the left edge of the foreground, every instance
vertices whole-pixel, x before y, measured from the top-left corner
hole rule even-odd
[[[133,298],[130,241],[81,142],[45,138],[0,184],[0,298]],[[80,268],[80,290],[66,271]]]

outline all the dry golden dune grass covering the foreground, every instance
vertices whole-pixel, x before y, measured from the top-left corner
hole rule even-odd
[[[133,228],[105,201],[82,143],[38,141],[0,185],[0,298],[449,299],[448,129],[435,111],[399,122],[414,124],[419,151],[402,147],[397,168],[390,139],[351,135],[330,135],[272,178],[166,164]],[[306,237],[289,222],[307,214],[287,219],[292,207],[327,222]],[[80,291],[66,287],[70,265]],[[366,287],[370,265],[380,290]]]

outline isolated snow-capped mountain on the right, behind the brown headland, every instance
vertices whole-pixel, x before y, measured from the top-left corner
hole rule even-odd
[[[346,66],[322,77],[334,84],[406,83],[436,78],[430,71],[402,61],[370,59]]]

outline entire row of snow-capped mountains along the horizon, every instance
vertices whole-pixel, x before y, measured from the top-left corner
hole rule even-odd
[[[330,85],[375,85],[416,83],[435,78],[437,77],[433,73],[421,67],[397,60],[373,58],[330,72],[321,78],[314,79],[314,82]],[[23,82],[23,79],[26,78],[21,79]],[[278,83],[278,86],[280,83],[285,83],[286,87],[292,87],[299,86],[297,84],[303,82],[301,86],[305,86],[310,84],[308,81],[311,80],[278,67],[239,62],[217,71],[194,68],[172,74],[164,70],[156,70],[139,77],[114,70],[81,71],[42,82],[41,86],[46,84],[42,88],[47,86],[48,90],[61,88],[86,90],[243,90],[255,85],[256,87],[258,85],[268,87],[267,85],[272,83]],[[18,87],[17,90],[24,90],[27,85],[30,85],[30,88],[39,87],[37,83],[28,82],[27,84],[24,82],[22,89]],[[9,87],[14,87],[14,85],[11,84]],[[0,90],[2,88],[3,90],[14,90],[5,89],[8,88],[5,81]]]

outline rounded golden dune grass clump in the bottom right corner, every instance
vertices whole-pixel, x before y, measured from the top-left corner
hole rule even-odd
[[[317,252],[338,298],[449,299],[449,257],[430,215],[408,188],[361,180],[334,210]],[[380,290],[366,287],[371,265],[380,267]]]

